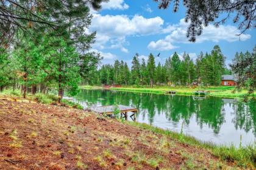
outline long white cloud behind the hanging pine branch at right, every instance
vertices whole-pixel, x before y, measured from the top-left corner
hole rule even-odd
[[[169,25],[166,29],[162,30],[163,33],[169,33],[169,35],[164,39],[149,42],[148,48],[151,50],[171,50],[174,49],[175,43],[191,43],[186,36],[187,27],[188,23],[185,22],[185,19],[180,19],[179,24]],[[210,24],[208,27],[204,27],[202,35],[197,36],[196,43],[205,41],[246,41],[251,38],[249,34],[236,36],[239,33],[240,30],[233,25],[220,25],[216,28],[214,25]]]

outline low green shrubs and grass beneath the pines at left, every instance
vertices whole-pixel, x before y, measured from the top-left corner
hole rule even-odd
[[[43,93],[37,93],[35,95],[27,93],[26,99],[22,98],[22,95],[20,93],[20,90],[4,90],[3,92],[0,92],[0,97],[7,97],[7,98],[18,98],[18,100],[23,101],[35,101],[43,104],[57,104],[58,96],[55,94],[43,94]],[[78,103],[74,103],[73,101],[62,99],[61,103],[62,106],[69,106],[74,107],[77,109],[83,109],[82,106]]]

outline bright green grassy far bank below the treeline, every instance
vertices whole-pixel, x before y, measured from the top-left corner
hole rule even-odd
[[[208,95],[213,97],[226,97],[226,98],[242,98],[247,94],[247,90],[234,92],[235,87],[230,86],[216,86],[216,87],[113,87],[111,90],[121,90],[129,92],[145,92],[154,94],[165,94],[166,91],[175,91],[177,95],[194,95],[197,90],[206,90]]]

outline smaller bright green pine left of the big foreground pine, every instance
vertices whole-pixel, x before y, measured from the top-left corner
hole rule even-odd
[[[16,41],[13,51],[13,65],[18,72],[19,82],[23,98],[26,98],[27,87],[40,83],[45,74],[41,70],[44,56],[41,53],[43,46],[37,36],[23,36]],[[43,44],[43,43],[42,43]]]

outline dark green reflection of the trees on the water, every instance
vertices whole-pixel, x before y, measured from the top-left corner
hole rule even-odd
[[[215,133],[219,132],[225,122],[224,104],[229,104],[235,111],[232,122],[236,129],[244,129],[246,132],[254,129],[256,136],[255,101],[236,104],[216,97],[201,99],[192,96],[140,94],[110,90],[84,90],[77,96],[77,99],[98,102],[102,106],[118,103],[137,107],[143,118],[148,117],[151,124],[154,122],[155,114],[163,115],[169,121],[182,120],[187,124],[190,123],[192,117],[195,117],[199,126],[202,127],[206,124]]]

